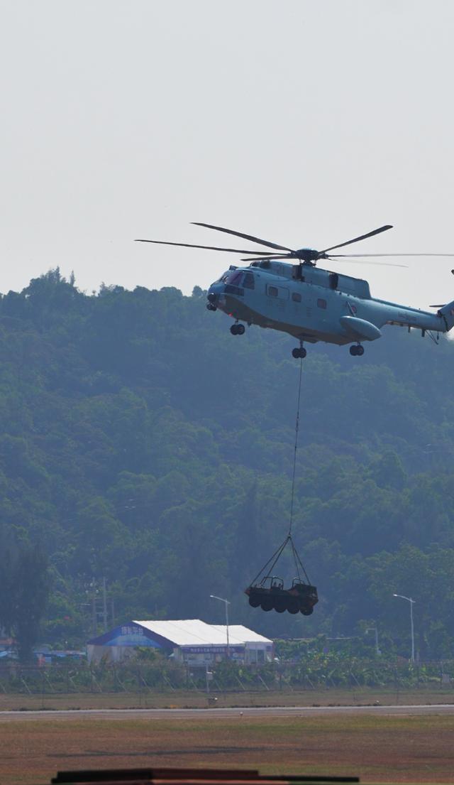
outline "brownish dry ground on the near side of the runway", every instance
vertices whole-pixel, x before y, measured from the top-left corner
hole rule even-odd
[[[58,770],[206,766],[357,775],[361,783],[454,783],[454,717],[77,718],[2,722],[2,785]]]

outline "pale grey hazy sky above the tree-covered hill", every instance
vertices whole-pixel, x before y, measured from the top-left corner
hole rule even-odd
[[[453,34],[451,0],[0,0],[0,291],[207,287],[235,257],[133,243],[224,244],[190,221],[454,253]],[[454,260],[409,265],[342,272],[454,298]]]

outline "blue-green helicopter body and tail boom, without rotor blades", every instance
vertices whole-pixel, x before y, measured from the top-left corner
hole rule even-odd
[[[414,327],[423,334],[447,332],[454,324],[452,303],[430,313],[378,300],[371,297],[367,281],[311,263],[232,265],[209,287],[208,299],[210,310],[220,309],[237,322],[289,333],[301,345],[303,341],[360,345],[380,338],[386,324]]]

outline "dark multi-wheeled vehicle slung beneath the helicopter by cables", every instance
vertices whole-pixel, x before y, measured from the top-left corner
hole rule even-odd
[[[245,594],[249,595],[249,605],[252,608],[262,608],[263,611],[277,611],[278,613],[302,613],[310,616],[314,605],[318,603],[316,586],[304,583],[296,578],[290,589],[284,589],[284,582],[275,575],[267,575],[262,582],[255,586],[248,586]]]

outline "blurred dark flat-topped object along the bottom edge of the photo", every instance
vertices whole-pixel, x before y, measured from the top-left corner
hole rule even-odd
[[[358,783],[358,777],[304,776],[260,776],[254,769],[94,769],[80,772],[58,772],[51,780],[53,785],[75,785],[75,783],[104,783],[104,785],[242,785],[257,782],[262,785],[286,785],[286,783]]]

